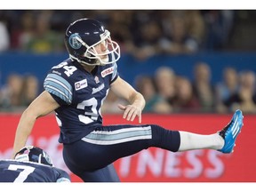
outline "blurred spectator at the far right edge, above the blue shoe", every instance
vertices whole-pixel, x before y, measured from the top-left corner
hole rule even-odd
[[[254,72],[250,70],[241,72],[239,91],[225,101],[229,112],[234,112],[237,108],[244,113],[256,112],[255,78]]]

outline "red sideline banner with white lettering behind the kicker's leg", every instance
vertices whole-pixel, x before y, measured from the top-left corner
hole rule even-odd
[[[218,132],[232,115],[154,115],[144,114],[143,124],[159,124],[167,129],[202,134]],[[161,148],[148,148],[140,153],[116,161],[116,171],[124,182],[255,182],[256,181],[256,126],[253,115],[244,115],[244,127],[236,140],[235,152],[222,154],[215,150],[194,150],[172,153]],[[0,159],[10,158],[12,144],[20,114],[0,115]],[[131,124],[121,115],[103,116],[104,124]],[[138,124],[136,119],[134,123]],[[55,116],[39,118],[29,145],[44,148],[56,167],[68,171],[58,143],[59,127]],[[81,182],[71,172],[72,181]]]

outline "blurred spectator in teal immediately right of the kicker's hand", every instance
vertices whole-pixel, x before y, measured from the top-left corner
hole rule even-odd
[[[156,92],[156,85],[151,76],[137,76],[135,87],[146,100],[144,113],[163,114],[172,112],[172,106]]]

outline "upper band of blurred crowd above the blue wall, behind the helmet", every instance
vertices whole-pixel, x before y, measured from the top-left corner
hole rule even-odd
[[[121,51],[143,59],[223,49],[234,27],[231,10],[5,10],[0,11],[1,51],[62,52],[63,31],[79,18],[102,21]]]

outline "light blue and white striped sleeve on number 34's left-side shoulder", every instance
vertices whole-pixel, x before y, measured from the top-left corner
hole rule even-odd
[[[68,104],[72,101],[73,88],[66,79],[56,74],[48,74],[44,80],[44,89]]]

